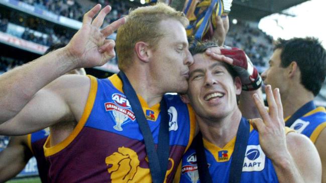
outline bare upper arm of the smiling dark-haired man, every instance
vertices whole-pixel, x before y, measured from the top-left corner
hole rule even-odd
[[[286,139],[288,149],[304,181],[320,182],[320,158],[311,140],[298,133],[288,133]]]

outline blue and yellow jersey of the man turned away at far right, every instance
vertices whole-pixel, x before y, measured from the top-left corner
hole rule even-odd
[[[306,135],[315,143],[320,132],[326,127],[326,110],[324,107],[315,107],[314,105],[307,104],[293,114],[300,117],[293,119],[295,121],[290,128],[296,130],[298,133]],[[304,111],[304,109],[308,112],[300,114],[300,111]],[[291,116],[285,119],[285,124],[290,117]]]

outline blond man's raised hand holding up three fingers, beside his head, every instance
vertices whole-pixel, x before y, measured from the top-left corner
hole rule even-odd
[[[106,38],[113,34],[126,20],[121,18],[100,29],[105,16],[111,11],[111,7],[106,6],[101,11],[100,9],[101,6],[98,4],[84,15],[82,27],[66,47],[76,68],[101,66],[116,56],[115,41]],[[97,13],[98,15],[93,20]]]

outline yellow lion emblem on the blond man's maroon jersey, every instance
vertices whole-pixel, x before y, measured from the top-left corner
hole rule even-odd
[[[174,166],[173,159],[169,158],[169,160],[172,162],[172,166],[167,171],[167,175],[170,174]],[[105,158],[105,163],[106,165],[112,164],[112,167],[108,168],[107,171],[111,173],[113,183],[152,181],[150,169],[139,166],[138,154],[133,149],[119,147],[118,152],[114,152]]]

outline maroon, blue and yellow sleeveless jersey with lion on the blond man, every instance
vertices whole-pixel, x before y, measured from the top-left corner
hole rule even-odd
[[[72,133],[61,143],[44,146],[51,182],[152,182],[145,144],[122,81],[115,74],[91,80],[86,106]],[[160,104],[148,107],[138,96],[157,146]],[[169,164],[165,181],[171,182],[181,156],[194,137],[194,113],[178,95],[165,95],[169,114]]]

